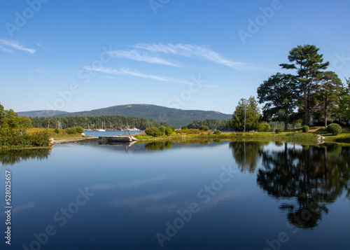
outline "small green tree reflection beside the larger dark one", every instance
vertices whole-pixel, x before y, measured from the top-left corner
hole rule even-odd
[[[230,148],[241,172],[253,173],[268,141],[232,141]]]

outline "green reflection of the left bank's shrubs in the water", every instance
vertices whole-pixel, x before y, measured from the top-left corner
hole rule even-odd
[[[0,162],[3,166],[14,165],[15,163],[21,162],[22,160],[47,159],[49,155],[50,149],[48,148],[0,151]]]

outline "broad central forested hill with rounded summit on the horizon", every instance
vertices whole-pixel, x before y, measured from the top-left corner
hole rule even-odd
[[[137,117],[164,122],[172,127],[181,127],[182,125],[191,123],[193,120],[228,120],[232,118],[232,115],[220,113],[217,111],[171,109],[164,106],[156,106],[150,104],[111,106],[105,109],[94,109],[92,111],[59,114],[56,117],[64,118],[69,116]]]

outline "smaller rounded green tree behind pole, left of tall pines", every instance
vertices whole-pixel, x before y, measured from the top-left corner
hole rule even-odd
[[[231,120],[231,127],[236,131],[244,130],[244,118],[246,117],[246,131],[256,130],[259,127],[260,109],[258,102],[256,102],[253,96],[248,100],[241,99],[236,106]]]

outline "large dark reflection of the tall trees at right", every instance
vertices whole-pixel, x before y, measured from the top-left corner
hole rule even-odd
[[[339,148],[340,147],[340,148]],[[349,187],[349,148],[339,145],[309,146],[300,150],[264,151],[257,182],[273,197],[294,198],[281,204],[288,221],[298,228],[314,228],[327,204]]]

